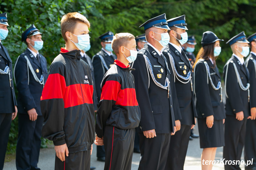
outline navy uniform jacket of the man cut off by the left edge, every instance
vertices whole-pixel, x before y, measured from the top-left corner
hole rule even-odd
[[[14,113],[17,106],[15,91],[12,78],[12,59],[10,58],[7,49],[2,46],[0,49],[0,69],[4,70],[6,65],[10,69],[11,87],[9,74],[0,74],[0,114],[1,113]]]

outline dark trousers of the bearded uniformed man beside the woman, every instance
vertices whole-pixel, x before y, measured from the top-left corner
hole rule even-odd
[[[171,137],[166,170],[183,170],[191,126],[181,125],[180,130]]]

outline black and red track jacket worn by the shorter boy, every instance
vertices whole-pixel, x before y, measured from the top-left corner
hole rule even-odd
[[[106,125],[120,129],[139,126],[140,109],[136,99],[134,77],[122,62],[115,60],[101,82],[101,100],[96,117],[96,134],[104,135]]]

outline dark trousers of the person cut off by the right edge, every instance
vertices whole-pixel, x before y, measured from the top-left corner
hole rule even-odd
[[[256,120],[248,119],[246,123],[246,135],[244,144],[244,160],[251,161],[252,165],[248,165],[245,169],[256,167]]]

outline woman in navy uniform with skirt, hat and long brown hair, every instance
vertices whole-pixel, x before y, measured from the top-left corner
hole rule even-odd
[[[217,147],[225,145],[225,109],[221,76],[215,62],[221,52],[220,41],[223,40],[213,32],[204,32],[193,66],[200,148],[203,148],[202,170],[212,169]]]

